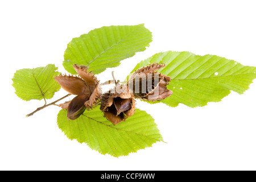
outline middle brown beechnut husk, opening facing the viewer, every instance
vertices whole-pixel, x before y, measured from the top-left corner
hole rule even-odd
[[[117,93],[114,88],[102,95],[100,109],[110,122],[117,125],[135,113],[135,100],[132,94]]]

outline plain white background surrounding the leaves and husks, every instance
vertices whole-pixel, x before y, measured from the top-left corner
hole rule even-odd
[[[94,28],[144,23],[153,42],[98,78],[123,80],[138,61],[161,51],[212,54],[256,66],[255,1],[1,1],[1,170],[255,170],[256,83],[205,107],[137,102],[166,143],[120,158],[69,140],[58,128],[59,108],[25,115],[44,101],[22,101],[15,71],[49,63],[62,67],[72,38]],[[51,102],[64,96],[55,94]]]

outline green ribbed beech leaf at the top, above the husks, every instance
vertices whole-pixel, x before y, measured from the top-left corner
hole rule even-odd
[[[119,61],[144,51],[152,35],[144,24],[96,28],[88,34],[73,38],[64,53],[64,68],[76,74],[73,64],[89,66],[94,74],[117,67]]]

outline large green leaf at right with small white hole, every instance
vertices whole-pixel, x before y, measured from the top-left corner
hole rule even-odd
[[[166,64],[159,72],[172,78],[167,88],[173,94],[158,102],[172,107],[179,103],[196,107],[219,102],[231,90],[242,94],[256,78],[256,67],[243,66],[234,60],[214,55],[199,56],[191,52],[172,51],[156,53],[138,63],[132,72],[151,63]]]

